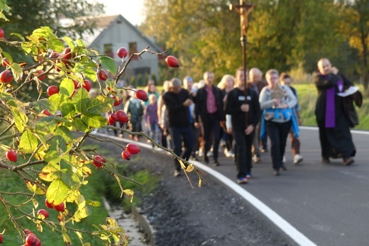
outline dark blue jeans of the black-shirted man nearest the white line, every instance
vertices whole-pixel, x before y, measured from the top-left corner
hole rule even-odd
[[[172,137],[172,142],[174,145],[175,155],[182,157],[184,160],[189,160],[191,156],[193,147],[193,131],[191,125],[186,126],[170,126],[169,128],[170,136]],[[184,151],[182,154],[182,140],[184,143]],[[181,155],[182,154],[182,155]],[[175,169],[180,171],[182,169],[180,162],[174,159]]]

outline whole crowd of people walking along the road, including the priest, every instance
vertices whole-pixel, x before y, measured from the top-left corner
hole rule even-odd
[[[352,125],[343,108],[344,97],[338,93],[353,84],[326,58],[319,60],[317,69],[315,113],[321,162],[341,157],[344,165],[350,165],[356,149],[350,133]],[[133,90],[126,91],[122,107],[130,118],[126,127],[133,132],[145,128],[150,138],[172,149],[178,157],[206,164],[211,159],[215,167],[220,165],[219,151],[224,147],[224,155],[236,162],[239,184],[253,178],[253,164],[262,161],[260,153],[270,152],[272,174],[279,176],[287,170],[288,135],[293,163],[304,160],[299,141],[301,107],[292,81],[289,74],[276,69],[265,72],[264,79],[257,67],[239,67],[234,76],[224,74],[218,84],[211,71],[204,72],[199,82],[190,76],[175,77],[163,82],[160,92],[149,80],[145,87],[147,102],[136,99]],[[131,138],[139,140],[136,135]],[[180,176],[182,167],[176,158],[174,167],[175,176]]]

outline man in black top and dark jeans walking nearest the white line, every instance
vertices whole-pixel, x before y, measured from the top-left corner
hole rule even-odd
[[[169,132],[172,137],[175,155],[189,160],[193,146],[193,133],[189,121],[189,106],[193,101],[189,97],[189,92],[181,88],[181,80],[173,78],[169,82],[169,91],[167,91],[163,100],[167,107]],[[184,143],[184,152],[182,154],[182,140]],[[182,156],[181,156],[182,154]],[[180,175],[182,169],[177,159],[175,163],[175,177]]]

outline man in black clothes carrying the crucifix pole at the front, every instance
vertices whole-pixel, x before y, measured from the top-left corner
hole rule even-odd
[[[225,113],[231,115],[233,138],[237,146],[238,184],[246,184],[252,177],[251,147],[261,113],[258,94],[253,89],[245,89],[244,77],[243,67],[238,68],[236,88],[228,93],[225,108]]]

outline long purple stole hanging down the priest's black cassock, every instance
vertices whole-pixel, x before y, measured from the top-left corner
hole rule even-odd
[[[328,75],[325,76],[329,79]],[[343,91],[343,82],[337,82],[338,91]],[[336,86],[326,89],[326,128],[336,127]]]

